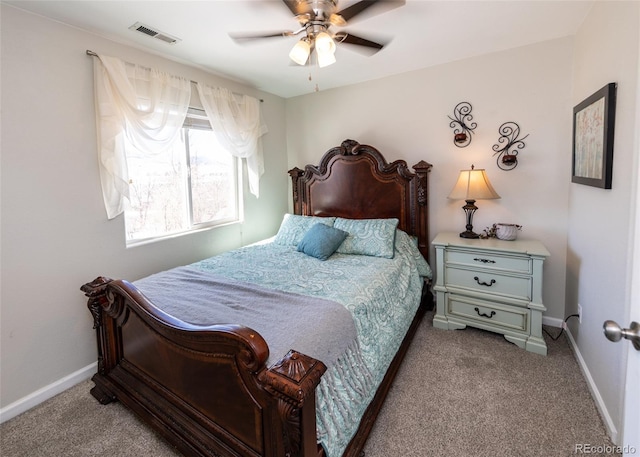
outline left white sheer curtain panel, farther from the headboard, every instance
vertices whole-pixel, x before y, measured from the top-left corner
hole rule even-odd
[[[94,80],[100,180],[112,219],[129,197],[126,142],[143,154],[166,150],[184,124],[191,81],[102,55]]]

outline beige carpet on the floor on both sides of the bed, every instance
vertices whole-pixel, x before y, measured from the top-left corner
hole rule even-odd
[[[546,336],[544,357],[493,333],[434,329],[432,319],[418,330],[367,457],[567,457],[576,445],[612,445],[564,335]],[[0,454],[179,455],[119,403],[100,405],[91,386],[80,383],[2,424]]]

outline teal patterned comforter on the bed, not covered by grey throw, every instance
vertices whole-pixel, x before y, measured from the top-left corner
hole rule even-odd
[[[395,248],[393,259],[336,253],[320,261],[293,246],[263,243],[192,265],[266,288],[333,300],[351,312],[357,344],[328,367],[317,390],[318,439],[328,457],[342,455],[358,429],[417,311],[423,277],[431,277],[415,243],[400,230]]]

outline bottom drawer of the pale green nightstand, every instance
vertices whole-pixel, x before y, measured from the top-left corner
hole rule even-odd
[[[527,308],[500,306],[451,294],[448,299],[447,314],[471,319],[485,326],[529,332],[529,310]]]

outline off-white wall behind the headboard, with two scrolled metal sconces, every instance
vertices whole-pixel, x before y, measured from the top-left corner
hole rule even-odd
[[[345,138],[409,166],[426,160],[433,164],[431,239],[440,231],[464,230],[464,202],[447,195],[459,170],[471,164],[485,168],[502,198],[477,202],[474,228],[517,223],[524,226],[519,237],[538,238],[547,246],[545,316],[559,322],[571,175],[572,51],[572,39],[564,38],[341,89],[322,91],[320,81],[320,92],[286,101],[289,165],[317,163]],[[466,148],[454,146],[448,119],[461,101],[471,103],[478,123]],[[497,167],[492,150],[507,121],[529,134],[511,171]]]

